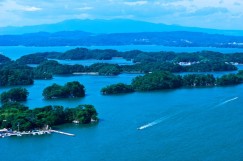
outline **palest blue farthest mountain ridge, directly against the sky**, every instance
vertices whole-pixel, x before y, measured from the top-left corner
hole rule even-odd
[[[85,31],[91,33],[136,33],[136,32],[171,32],[189,31],[204,32],[208,34],[223,34],[243,36],[243,30],[216,30],[196,27],[182,27],[178,25],[165,25],[128,19],[113,20],[66,20],[55,24],[43,24],[23,27],[1,27],[0,35],[24,34],[35,32]]]

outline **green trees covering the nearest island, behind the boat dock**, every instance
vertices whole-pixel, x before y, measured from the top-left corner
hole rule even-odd
[[[0,108],[0,128],[18,129],[29,131],[44,128],[46,125],[56,126],[72,123],[77,120],[81,124],[89,124],[98,121],[97,112],[92,105],[79,105],[75,108],[64,108],[63,106],[45,106],[33,110],[17,103],[11,102]]]

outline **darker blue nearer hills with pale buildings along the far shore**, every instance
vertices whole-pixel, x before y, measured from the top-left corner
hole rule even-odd
[[[226,36],[201,32],[140,32],[93,34],[82,31],[38,32],[0,35],[0,46],[108,46],[164,45],[177,47],[243,48],[243,36]]]

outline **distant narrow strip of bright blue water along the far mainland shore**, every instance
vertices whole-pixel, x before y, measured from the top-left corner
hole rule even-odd
[[[25,46],[0,46],[0,54],[13,60],[26,54],[46,51],[64,52],[78,46],[54,46],[54,47],[25,47]],[[118,51],[142,50],[142,51],[174,51],[174,52],[196,52],[202,50],[217,51],[222,53],[243,52],[243,48],[215,48],[215,47],[169,47],[156,45],[125,45],[125,46],[81,46],[89,49],[115,49]]]

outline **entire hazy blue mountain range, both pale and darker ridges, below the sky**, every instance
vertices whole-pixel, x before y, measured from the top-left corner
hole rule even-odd
[[[155,24],[126,19],[67,20],[0,28],[0,46],[164,45],[243,48],[243,31]]]

